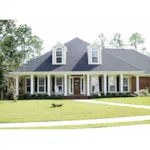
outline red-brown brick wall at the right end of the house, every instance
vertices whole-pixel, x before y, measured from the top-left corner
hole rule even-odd
[[[136,91],[136,78],[131,78],[132,83],[132,93]],[[144,89],[146,87],[150,87],[150,77],[140,77],[139,78],[139,89]]]

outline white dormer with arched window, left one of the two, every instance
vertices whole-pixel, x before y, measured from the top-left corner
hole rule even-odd
[[[64,65],[66,64],[67,47],[61,43],[57,43],[52,48],[52,64]]]

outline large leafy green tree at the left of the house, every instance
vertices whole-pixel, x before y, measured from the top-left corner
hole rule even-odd
[[[43,41],[32,34],[27,25],[16,26],[15,20],[0,20],[0,74],[17,69],[27,61],[38,57],[43,49]],[[7,68],[6,68],[7,67]],[[3,77],[4,78],[4,77]],[[0,87],[3,88],[0,77]],[[12,88],[14,89],[14,88]]]

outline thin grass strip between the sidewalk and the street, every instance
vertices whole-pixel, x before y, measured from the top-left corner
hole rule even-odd
[[[3,128],[3,129],[85,129],[85,128],[102,128],[113,126],[127,126],[138,124],[150,124],[150,120],[134,121],[134,122],[120,122],[107,124],[88,124],[88,125],[65,125],[65,126],[47,126],[47,127],[21,127],[21,128]]]

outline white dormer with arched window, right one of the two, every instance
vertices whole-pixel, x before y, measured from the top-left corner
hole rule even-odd
[[[93,43],[87,47],[88,49],[88,64],[102,64],[102,48],[98,43]]]

